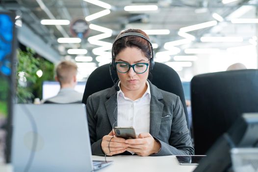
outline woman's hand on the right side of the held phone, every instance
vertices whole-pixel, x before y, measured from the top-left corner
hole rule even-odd
[[[150,133],[141,133],[137,139],[128,139],[125,143],[129,144],[126,150],[135,152],[140,156],[157,153],[161,146]]]

